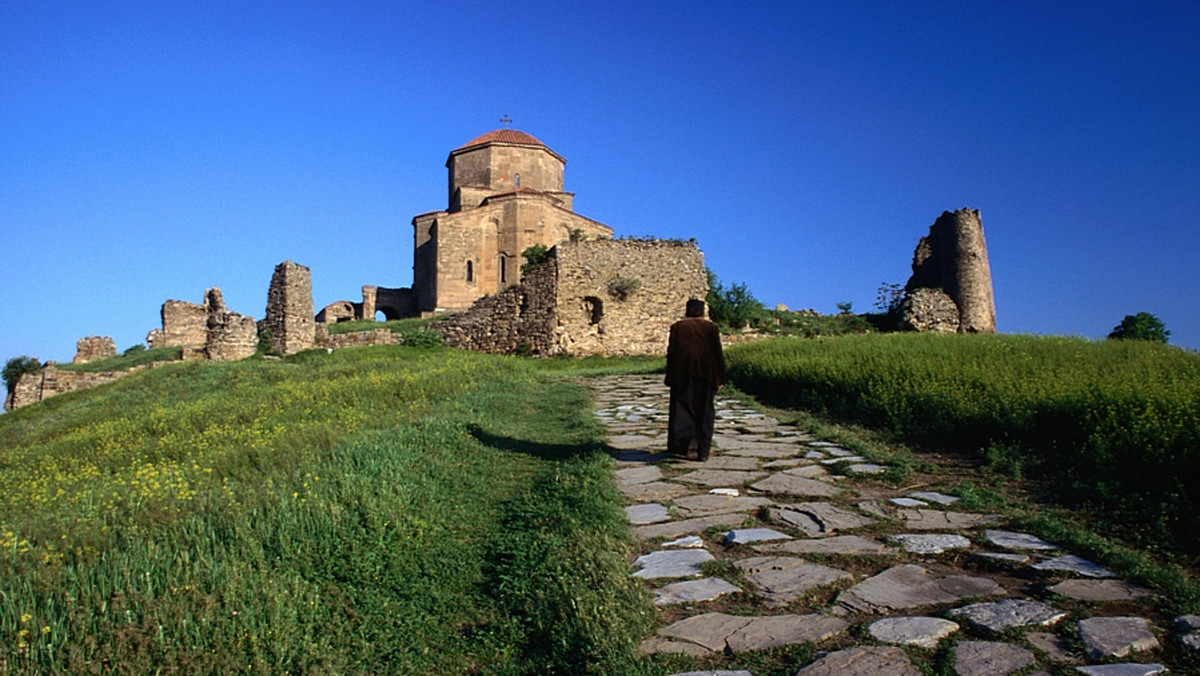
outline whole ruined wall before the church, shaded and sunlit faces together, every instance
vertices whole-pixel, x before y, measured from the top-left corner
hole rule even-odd
[[[688,299],[707,292],[695,243],[564,243],[520,286],[430,328],[449,345],[481,352],[665,354]]]

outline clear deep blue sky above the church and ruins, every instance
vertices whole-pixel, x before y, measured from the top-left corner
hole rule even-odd
[[[5,0],[0,359],[124,349],[210,286],[260,318],[284,259],[318,307],[408,286],[503,114],[580,214],[768,306],[870,310],[971,207],[1001,331],[1147,311],[1200,348],[1198,38],[1194,0]]]

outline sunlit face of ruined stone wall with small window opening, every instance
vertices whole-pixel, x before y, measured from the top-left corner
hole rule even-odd
[[[708,293],[704,255],[694,241],[602,239],[557,249],[557,353],[666,354],[688,299]],[[624,299],[611,288],[622,279],[640,282]]]

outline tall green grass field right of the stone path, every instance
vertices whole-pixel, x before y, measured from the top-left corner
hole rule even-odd
[[[1200,555],[1200,354],[1145,341],[893,334],[730,351],[763,401],[978,453],[1152,549]]]

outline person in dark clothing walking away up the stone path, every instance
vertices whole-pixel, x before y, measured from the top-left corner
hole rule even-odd
[[[704,318],[703,300],[689,300],[685,317],[671,324],[666,384],[668,450],[688,460],[708,460],[716,417],[713,396],[725,384],[725,354],[716,324]]]

